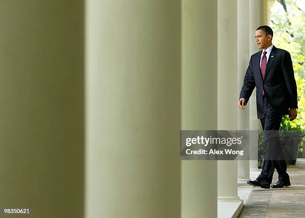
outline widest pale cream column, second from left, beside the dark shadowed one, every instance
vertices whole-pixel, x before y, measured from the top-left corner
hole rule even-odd
[[[86,218],[180,217],[180,3],[86,1]]]

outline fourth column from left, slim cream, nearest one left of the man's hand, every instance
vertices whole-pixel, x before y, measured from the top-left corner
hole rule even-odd
[[[218,0],[218,129],[237,130],[237,0]],[[237,161],[218,161],[218,200],[239,200]]]

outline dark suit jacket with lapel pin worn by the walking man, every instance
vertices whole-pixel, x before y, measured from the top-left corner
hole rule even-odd
[[[260,68],[261,54],[262,51],[259,51],[250,58],[240,98],[246,99],[247,103],[256,87],[257,116],[262,119],[264,118],[262,106],[264,88],[265,97],[275,112],[279,115],[288,114],[289,108],[298,108],[297,84],[290,53],[273,45],[264,80]]]

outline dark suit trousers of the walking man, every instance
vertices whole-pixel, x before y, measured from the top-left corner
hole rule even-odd
[[[265,161],[262,172],[259,179],[264,179],[267,183],[272,183],[274,169],[277,169],[279,174],[279,180],[287,181],[289,180],[289,175],[287,171],[287,163],[284,158],[278,158],[279,155],[283,155],[280,140],[278,137],[270,137],[265,140],[266,135],[270,133],[275,133],[279,130],[281,126],[282,116],[275,113],[272,106],[269,104],[267,98],[263,96],[263,110],[265,117],[261,120],[262,127],[264,130],[264,141],[266,144],[265,148]],[[269,131],[268,130],[273,130]],[[276,154],[277,158],[274,158],[275,152],[280,152]]]

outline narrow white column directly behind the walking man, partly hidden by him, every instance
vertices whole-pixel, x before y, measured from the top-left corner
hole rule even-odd
[[[250,56],[259,51],[255,43],[255,30],[257,27],[263,25],[264,21],[264,0],[250,0],[249,1],[249,39],[250,39]],[[256,89],[249,100],[250,106],[250,130],[258,130],[261,127],[260,121],[257,119],[256,111]],[[252,141],[252,140],[251,140]],[[254,140],[255,141],[255,140]],[[257,142],[250,145],[251,151],[257,153]],[[250,161],[250,168],[258,170],[257,161]]]

